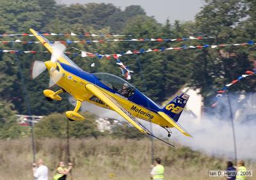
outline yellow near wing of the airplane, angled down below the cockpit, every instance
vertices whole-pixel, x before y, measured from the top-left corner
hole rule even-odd
[[[124,119],[126,119],[129,123],[132,124],[132,126],[137,128],[139,131],[141,131],[142,133],[147,133],[148,135],[155,137],[156,139],[159,139],[158,137],[153,135],[153,133],[147,130],[147,128],[145,128],[145,126],[143,126],[140,123],[140,121],[138,121],[135,117],[131,116],[131,114],[127,112],[127,110],[125,110],[124,107],[122,107],[122,105],[120,105],[118,102],[116,102],[116,100],[108,96],[108,94],[105,94],[103,91],[101,91],[98,87],[94,86],[93,84],[87,84],[85,87],[86,89],[88,89],[88,91],[97,96],[97,98],[106,103],[106,105],[111,107],[111,109],[115,110],[118,114],[120,114],[120,116],[124,117]],[[166,144],[169,144],[170,146],[173,146],[172,144],[162,139],[159,140],[165,142]]]

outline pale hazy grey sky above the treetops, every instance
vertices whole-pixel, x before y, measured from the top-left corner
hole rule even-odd
[[[193,20],[196,13],[200,11],[200,7],[204,5],[204,0],[58,0],[59,3],[112,3],[122,10],[126,6],[140,5],[149,16],[154,16],[158,22],[165,22],[166,19],[171,20]]]

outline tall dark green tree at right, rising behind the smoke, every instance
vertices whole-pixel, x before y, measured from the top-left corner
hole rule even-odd
[[[196,27],[198,35],[214,36],[214,40],[209,40],[207,43],[242,43],[241,40],[248,39],[248,33],[244,29],[246,24],[244,20],[248,16],[246,1],[207,0],[205,2],[207,4],[196,15]],[[201,93],[206,98],[205,105],[211,102],[211,97],[219,88],[236,79],[244,71],[250,70],[251,63],[248,54],[250,54],[250,49],[243,47],[196,51],[196,61],[193,64],[190,82],[191,86],[201,89]],[[250,81],[246,83],[246,86],[237,85],[237,89],[250,89]],[[236,91],[236,88],[231,91]]]

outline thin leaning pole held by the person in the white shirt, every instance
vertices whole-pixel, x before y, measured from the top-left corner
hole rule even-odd
[[[30,104],[30,100],[29,100],[29,96],[28,96],[28,91],[27,91],[27,88],[26,88],[26,84],[24,82],[24,77],[23,77],[23,74],[22,74],[22,70],[21,70],[21,67],[20,67],[20,61],[19,61],[19,58],[18,58],[18,55],[16,54],[16,61],[17,61],[17,64],[18,64],[18,68],[19,68],[19,73],[20,73],[20,79],[21,79],[21,83],[22,83],[22,91],[23,91],[23,95],[24,95],[24,98],[25,98],[25,103],[26,103],[26,106],[28,108],[28,115],[29,117],[31,117],[31,104]],[[33,116],[33,121],[35,119],[35,117]],[[30,131],[31,131],[31,144],[32,144],[32,151],[33,151],[33,163],[35,163],[36,161],[36,149],[35,149],[35,139],[34,139],[34,122],[31,121],[30,122]]]

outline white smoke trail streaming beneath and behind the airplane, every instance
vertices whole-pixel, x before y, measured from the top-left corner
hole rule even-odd
[[[228,105],[225,103],[225,105]],[[232,103],[234,107],[235,103]],[[226,108],[228,109],[228,107]],[[234,107],[234,109],[236,109]],[[100,117],[115,118],[120,121],[125,121],[119,114],[112,110],[102,109],[92,103],[84,102],[82,110],[87,110]],[[195,121],[188,113],[183,112],[179,119],[181,124],[193,138],[185,137],[179,131],[172,128],[173,134],[171,139],[184,146],[189,146],[192,149],[203,151],[207,154],[225,156],[234,158],[234,144],[232,138],[232,126],[228,116],[225,119],[218,119],[209,115],[202,117],[201,121]],[[255,112],[256,114],[256,112]],[[147,121],[142,121],[148,129],[150,124]],[[256,160],[256,119],[255,121],[234,123],[236,131],[237,158],[250,158]],[[167,131],[152,124],[153,133],[157,136],[167,137]]]

